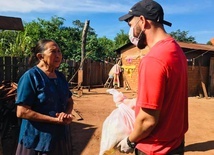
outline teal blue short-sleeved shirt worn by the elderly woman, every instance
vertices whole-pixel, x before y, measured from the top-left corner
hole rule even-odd
[[[36,66],[25,72],[18,83],[16,104],[28,105],[32,110],[52,117],[65,112],[72,94],[65,76],[55,72],[57,78],[53,79]],[[64,125],[22,119],[19,143],[29,149],[50,151],[65,134]]]

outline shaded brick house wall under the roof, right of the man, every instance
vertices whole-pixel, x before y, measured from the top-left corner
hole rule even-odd
[[[211,87],[210,65],[213,57],[212,52],[206,50],[190,50],[183,48],[188,60],[188,95],[189,96],[205,96],[202,89],[202,82],[205,84],[207,95],[212,97],[214,91]],[[201,68],[201,74],[200,74]]]

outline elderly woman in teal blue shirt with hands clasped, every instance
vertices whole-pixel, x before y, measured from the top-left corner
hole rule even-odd
[[[22,124],[16,155],[72,154],[68,138],[72,94],[65,76],[57,71],[62,53],[55,41],[42,39],[33,55],[38,64],[18,83],[17,117],[22,118]]]

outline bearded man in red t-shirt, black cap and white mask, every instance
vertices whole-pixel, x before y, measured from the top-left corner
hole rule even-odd
[[[119,18],[130,26],[130,41],[149,53],[139,65],[136,120],[132,133],[117,147],[136,155],[183,155],[188,130],[187,61],[176,41],[166,33],[160,4],[136,3]]]

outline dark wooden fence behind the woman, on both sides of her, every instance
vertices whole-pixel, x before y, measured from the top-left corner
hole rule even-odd
[[[79,62],[63,60],[68,64],[66,74],[67,81],[78,83]],[[86,59],[83,63],[83,86],[102,86],[105,84],[108,73],[113,67],[113,60],[92,61]],[[22,74],[29,69],[28,58],[0,57],[0,83],[2,81],[18,82]]]

